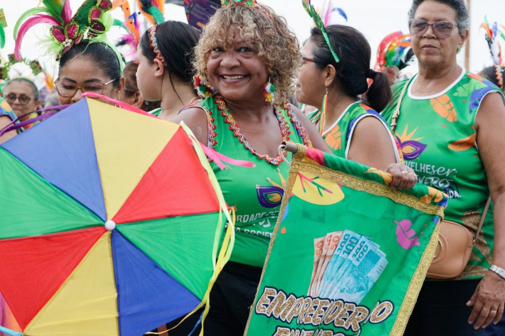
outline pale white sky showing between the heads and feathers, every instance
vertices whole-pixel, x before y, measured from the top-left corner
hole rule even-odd
[[[72,10],[75,13],[82,3],[82,0],[70,0]],[[304,41],[308,36],[313,22],[305,13],[301,5],[301,0],[263,0],[261,3],[272,7],[277,14],[283,15],[290,27],[294,30],[298,39]],[[7,42],[4,49],[0,51],[3,57],[14,51],[13,28],[17,18],[25,10],[36,6],[39,0],[23,0],[21,2],[8,2],[0,0],[0,8],[5,11],[8,27],[6,30]],[[130,0],[133,5],[136,3]],[[323,0],[313,0],[312,3],[317,8],[322,6]],[[347,24],[360,30],[368,39],[372,47],[372,64],[375,64],[375,54],[379,42],[384,36],[397,30],[404,33],[408,32],[407,12],[411,5],[411,0],[334,0],[337,7],[342,8],[348,17]],[[499,15],[501,13],[501,15]],[[484,33],[479,29],[480,24],[487,15],[488,21],[498,21],[505,25],[505,1],[503,0],[472,0],[471,10],[471,56],[470,71],[479,72],[483,67],[492,65],[489,56],[487,43],[484,39]],[[117,9],[113,16],[121,19],[122,11]],[[345,22],[339,16],[334,16],[332,23],[344,24]],[[501,18],[501,22],[499,19]],[[184,9],[180,6],[166,5],[166,20],[186,21]],[[56,69],[56,63],[48,57],[39,54],[39,47],[36,42],[39,38],[44,38],[48,33],[48,26],[38,25],[31,29],[23,40],[21,53],[28,59],[38,59],[46,67]],[[109,39],[115,41],[121,31],[113,27],[109,34]],[[459,63],[464,65],[464,50],[459,54]],[[409,72],[415,73],[416,67],[410,67]],[[56,70],[55,70],[56,72]],[[55,73],[56,75],[56,73]]]

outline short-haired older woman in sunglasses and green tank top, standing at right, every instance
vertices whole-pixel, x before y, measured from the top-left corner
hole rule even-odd
[[[383,115],[419,181],[448,195],[445,219],[475,233],[489,195],[495,206],[463,273],[424,283],[405,334],[481,334],[505,301],[504,97],[456,62],[468,37],[464,0],[414,0],[409,16],[419,74],[393,87]]]

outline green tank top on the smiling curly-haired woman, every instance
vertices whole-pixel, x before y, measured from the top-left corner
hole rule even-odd
[[[289,165],[284,157],[278,156],[269,162],[266,155],[259,157],[253,153],[254,149],[246,148],[247,140],[220,95],[209,97],[198,105],[205,109],[209,122],[208,146],[228,157],[255,163],[252,168],[230,166],[223,171],[214,162],[211,166],[227,204],[236,208],[235,246],[230,260],[263,267]],[[276,114],[283,139],[312,146],[289,105],[278,107]],[[291,160],[290,154],[287,159]]]

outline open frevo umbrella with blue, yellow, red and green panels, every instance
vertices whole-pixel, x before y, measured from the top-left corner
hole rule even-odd
[[[181,126],[86,98],[0,146],[0,165],[6,327],[141,335],[208,303],[233,230],[219,250],[230,216]]]

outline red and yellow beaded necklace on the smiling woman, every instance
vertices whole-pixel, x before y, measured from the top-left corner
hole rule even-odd
[[[224,117],[225,123],[230,125],[229,128],[230,130],[233,131],[233,135],[237,137],[238,141],[240,141],[244,145],[244,147],[247,148],[253,155],[256,155],[260,159],[266,160],[267,162],[274,165],[279,165],[282,161],[284,161],[284,157],[287,156],[285,153],[283,155],[278,154],[276,157],[271,157],[268,154],[260,154],[254,148],[252,148],[247,139],[245,139],[243,134],[240,132],[240,128],[233,119],[233,116],[230,114],[230,110],[226,106],[223,97],[221,95],[216,96],[215,102],[218,105],[218,109],[221,111],[221,116]],[[277,117],[277,121],[279,122],[282,141],[289,141],[289,133],[290,133],[289,126],[287,122],[282,118],[281,114],[279,113],[279,110],[274,107],[274,111],[275,116]]]

